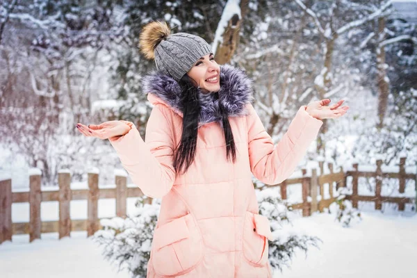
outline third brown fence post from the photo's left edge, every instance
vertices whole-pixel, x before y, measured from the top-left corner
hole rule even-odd
[[[59,225],[58,234],[59,239],[65,236],[71,236],[72,222],[70,217],[70,203],[72,199],[71,191],[71,174],[70,170],[60,170],[58,172],[59,185]]]

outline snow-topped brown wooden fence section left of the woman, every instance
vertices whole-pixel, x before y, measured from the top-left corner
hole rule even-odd
[[[28,192],[12,192],[11,179],[0,180],[0,243],[12,240],[12,235],[29,234],[29,242],[40,238],[41,233],[58,232],[59,238],[70,236],[71,231],[87,231],[92,236],[101,229],[98,218],[98,200],[113,198],[116,201],[116,215],[126,217],[126,198],[140,197],[138,187],[126,185],[127,175],[115,171],[115,188],[99,188],[99,174],[96,170],[88,172],[88,189],[71,189],[71,174],[68,170],[58,172],[58,190],[41,190],[40,171],[29,172]],[[70,219],[70,201],[87,200],[87,219]],[[41,202],[58,201],[59,220],[41,221]],[[29,222],[12,222],[12,204],[29,203]]]

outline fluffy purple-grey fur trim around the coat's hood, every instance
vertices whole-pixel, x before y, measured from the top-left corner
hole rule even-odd
[[[163,101],[174,112],[183,116],[181,104],[181,88],[172,77],[161,72],[154,72],[144,77],[142,88],[145,94],[151,94],[148,99],[152,104]],[[242,70],[231,65],[220,66],[219,97],[212,93],[199,92],[199,101],[202,110],[199,117],[199,126],[209,122],[219,122],[219,102],[223,104],[229,117],[246,115],[245,106],[253,100],[252,81]],[[154,98],[157,97],[157,99]]]

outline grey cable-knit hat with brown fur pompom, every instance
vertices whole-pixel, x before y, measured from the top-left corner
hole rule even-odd
[[[197,35],[170,34],[165,22],[151,22],[140,34],[140,49],[147,58],[154,58],[156,69],[176,81],[206,54],[213,53],[210,45]]]

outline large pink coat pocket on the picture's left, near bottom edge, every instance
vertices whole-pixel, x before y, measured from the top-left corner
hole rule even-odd
[[[202,260],[202,235],[191,214],[158,227],[153,241],[152,265],[158,275],[186,273]]]

